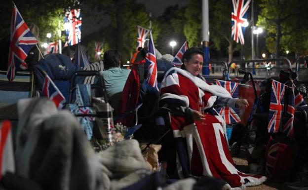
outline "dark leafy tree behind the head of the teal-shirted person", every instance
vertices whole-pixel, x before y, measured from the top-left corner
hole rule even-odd
[[[148,23],[144,4],[136,0],[92,0],[88,3],[97,10],[97,19],[109,15],[111,23],[106,28],[108,31],[103,33],[106,36],[104,41],[122,54],[122,60],[129,60],[136,49],[137,26],[147,26]]]

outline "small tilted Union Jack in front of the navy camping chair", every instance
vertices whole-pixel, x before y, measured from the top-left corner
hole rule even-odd
[[[66,103],[63,94],[47,74],[42,88],[42,95],[52,100],[58,109],[62,109],[63,105]]]

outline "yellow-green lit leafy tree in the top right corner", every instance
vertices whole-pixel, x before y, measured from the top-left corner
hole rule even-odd
[[[266,42],[270,53],[279,58],[282,49],[303,53],[307,49],[308,2],[302,0],[261,0],[258,26],[267,31]]]

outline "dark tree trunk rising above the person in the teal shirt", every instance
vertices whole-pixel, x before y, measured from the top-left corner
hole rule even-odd
[[[124,0],[116,0],[116,49],[123,55]]]

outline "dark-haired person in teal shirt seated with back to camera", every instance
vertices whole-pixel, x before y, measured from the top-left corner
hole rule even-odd
[[[104,77],[108,102],[115,109],[114,114],[117,115],[117,108],[120,101],[126,79],[130,73],[129,69],[120,68],[120,54],[116,50],[108,50],[103,57],[105,71],[100,72]],[[114,116],[115,116],[114,115]]]

